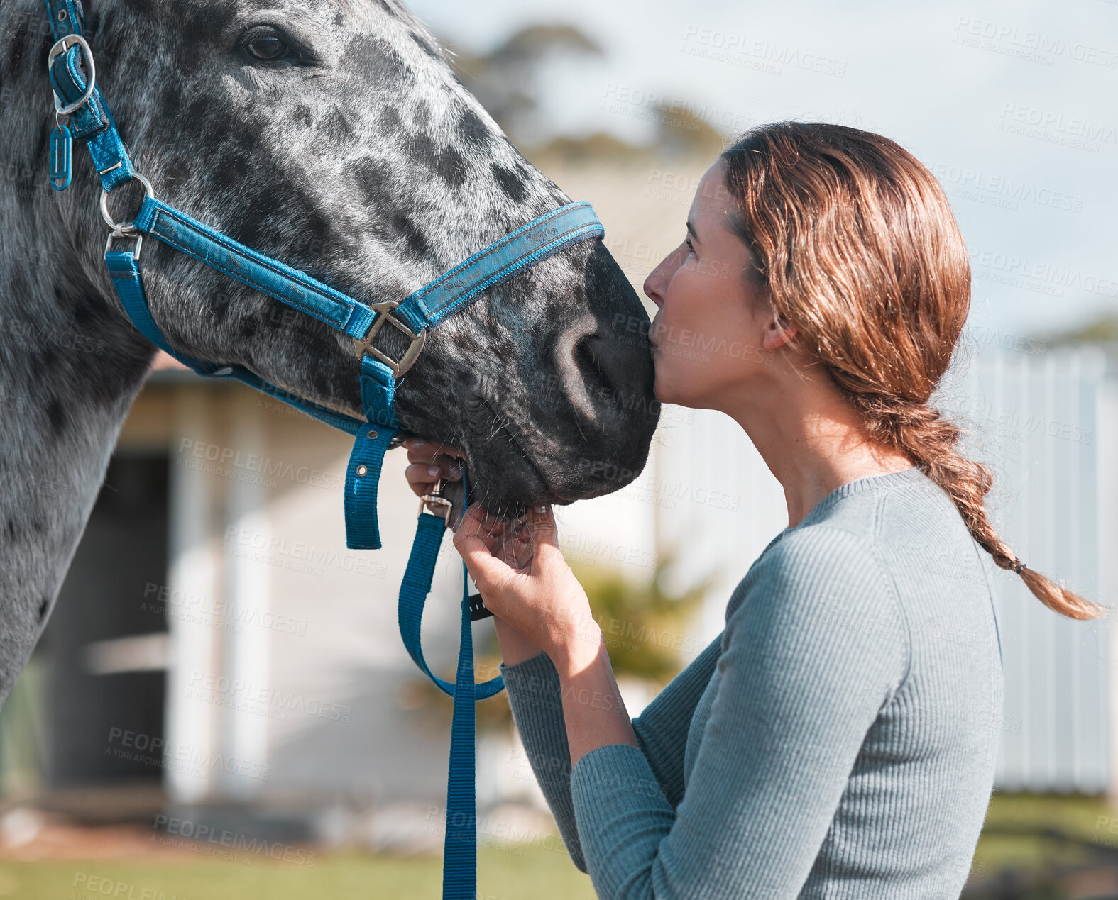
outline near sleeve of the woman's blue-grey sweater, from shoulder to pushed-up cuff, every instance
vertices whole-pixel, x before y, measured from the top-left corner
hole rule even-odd
[[[679,806],[631,745],[598,747],[571,773],[601,900],[796,897],[865,734],[906,677],[891,582],[853,535],[790,534],[740,587]]]

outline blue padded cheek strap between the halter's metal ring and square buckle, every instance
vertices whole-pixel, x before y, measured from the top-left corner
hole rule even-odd
[[[144,199],[135,227],[352,337],[363,336],[377,316],[340,290],[245,247],[154,197]]]

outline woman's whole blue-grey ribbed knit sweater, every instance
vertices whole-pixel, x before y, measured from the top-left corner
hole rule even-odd
[[[601,900],[957,898],[993,787],[1001,641],[983,550],[919,469],[830,494],[766,547],[726,629],[570,767],[540,653],[501,666]]]

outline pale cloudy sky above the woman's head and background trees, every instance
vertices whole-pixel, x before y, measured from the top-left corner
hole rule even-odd
[[[463,50],[577,26],[600,59],[546,70],[557,132],[650,138],[657,98],[727,134],[839,122],[911,151],[972,255],[972,325],[1022,335],[1118,314],[1118,0],[902,4],[413,0]]]

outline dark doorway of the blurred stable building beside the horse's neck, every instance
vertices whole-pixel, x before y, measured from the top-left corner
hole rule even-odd
[[[114,456],[42,635],[51,787],[162,781],[168,511],[167,453]]]

